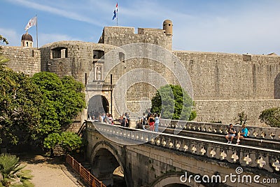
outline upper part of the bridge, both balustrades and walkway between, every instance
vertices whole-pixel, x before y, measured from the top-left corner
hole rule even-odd
[[[147,126],[148,127],[148,126]],[[241,166],[279,172],[280,142],[278,139],[248,138],[241,140],[241,145],[227,144],[225,134],[181,130],[174,134],[174,129],[160,127],[162,132],[107,125],[104,123],[87,123],[87,130],[98,131],[116,144],[137,145],[150,144],[179,154],[193,154],[203,158],[230,162]],[[174,153],[175,153],[174,152]]]

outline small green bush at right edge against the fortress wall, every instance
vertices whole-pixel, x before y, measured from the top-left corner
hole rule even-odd
[[[280,108],[266,109],[259,116],[260,122],[271,127],[280,127]]]

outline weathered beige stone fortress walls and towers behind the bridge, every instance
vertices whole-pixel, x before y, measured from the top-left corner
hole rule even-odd
[[[151,108],[156,86],[179,84],[176,75],[180,71],[176,70],[178,64],[174,59],[167,61],[175,71],[151,59],[126,59],[127,54],[119,47],[130,43],[155,44],[178,57],[190,76],[197,121],[235,123],[237,113],[244,111],[248,115],[249,125],[263,125],[258,120],[261,111],[280,106],[279,56],[172,51],[172,35],[165,34],[163,29],[139,28],[135,33],[133,27],[104,27],[99,43],[57,41],[39,50],[5,46],[3,54],[10,58],[8,67],[15,71],[29,75],[51,71],[59,76],[73,76],[82,83],[87,81],[90,85],[87,85],[86,101],[89,102],[95,95],[102,95],[106,99],[106,111],[112,112],[114,118],[126,111],[132,113],[131,117],[139,117]],[[111,50],[116,51],[102,58]],[[141,48],[138,52],[144,51]],[[166,54],[157,55],[162,59],[166,57]],[[116,60],[120,63],[110,66]],[[149,71],[130,74],[137,69],[149,69],[158,77]],[[125,75],[130,76],[124,78]],[[124,79],[120,85],[121,78]],[[141,78],[150,82],[131,84]],[[116,92],[122,87],[122,92]],[[121,107],[116,106],[118,102],[123,103]],[[82,121],[87,118],[83,116]]]

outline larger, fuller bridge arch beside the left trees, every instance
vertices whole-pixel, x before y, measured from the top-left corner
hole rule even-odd
[[[113,172],[118,167],[124,174],[121,186],[130,186],[128,184],[132,183],[130,174],[123,167],[125,166],[125,160],[118,154],[118,150],[108,142],[99,141],[95,144],[90,153],[90,160],[92,161],[91,173],[97,176],[106,186],[113,186]]]

